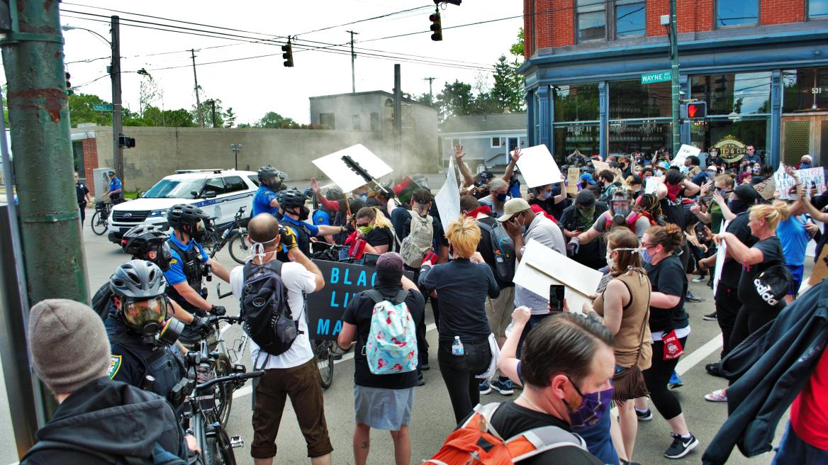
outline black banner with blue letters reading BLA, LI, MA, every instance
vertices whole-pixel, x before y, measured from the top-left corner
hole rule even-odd
[[[358,292],[373,289],[377,271],[373,266],[351,265],[335,261],[313,261],[322,271],[325,287],[309,294],[308,330],[311,339],[335,341],[342,331],[342,315],[349,300]],[[412,271],[403,271],[410,280]]]

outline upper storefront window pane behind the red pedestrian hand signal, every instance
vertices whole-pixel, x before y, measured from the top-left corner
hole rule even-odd
[[[707,103],[709,115],[771,113],[771,73],[691,76],[691,96]]]

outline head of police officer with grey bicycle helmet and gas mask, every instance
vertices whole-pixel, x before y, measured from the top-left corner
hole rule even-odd
[[[118,266],[109,289],[121,301],[116,318],[127,328],[145,340],[176,343],[184,324],[166,318],[166,278],[155,263],[132,260]]]

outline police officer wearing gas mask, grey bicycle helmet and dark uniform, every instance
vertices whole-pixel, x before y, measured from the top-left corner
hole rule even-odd
[[[181,399],[170,394],[186,370],[178,350],[172,348],[181,323],[166,319],[164,273],[149,261],[128,261],[118,266],[109,285],[113,314],[103,324],[112,351],[109,379],[155,392],[178,408]],[[163,336],[156,337],[159,334]]]

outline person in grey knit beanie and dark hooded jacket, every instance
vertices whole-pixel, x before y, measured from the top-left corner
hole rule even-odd
[[[38,443],[22,465],[147,460],[159,447],[186,460],[187,449],[196,449],[163,397],[109,379],[113,366],[106,329],[87,305],[64,299],[36,304],[29,314],[28,343],[32,368],[59,405],[35,434]]]

